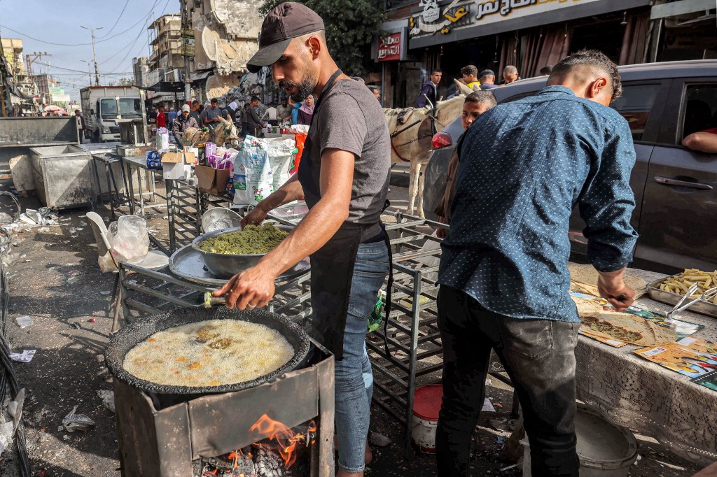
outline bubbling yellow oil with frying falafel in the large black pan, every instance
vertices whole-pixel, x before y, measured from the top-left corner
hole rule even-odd
[[[286,338],[264,324],[212,319],[156,332],[125,355],[123,367],[161,385],[219,386],[267,375],[293,355]]]

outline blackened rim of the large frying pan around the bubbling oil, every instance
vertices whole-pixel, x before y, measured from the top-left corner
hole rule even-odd
[[[247,322],[264,324],[271,329],[275,329],[287,339],[294,349],[294,356],[279,369],[267,375],[257,377],[255,380],[218,386],[189,387],[161,385],[156,382],[141,380],[125,370],[123,366],[125,355],[127,355],[129,350],[152,334],[183,324],[210,319],[242,319]],[[308,360],[310,347],[311,342],[304,329],[298,324],[290,322],[288,318],[280,314],[267,312],[262,309],[239,312],[237,310],[227,309],[227,307],[214,307],[212,309],[174,309],[171,310],[171,312],[138,320],[120,329],[120,331],[110,339],[110,344],[105,353],[105,362],[115,377],[143,391],[156,392],[161,395],[195,395],[238,391],[275,380],[285,372],[303,367]]]

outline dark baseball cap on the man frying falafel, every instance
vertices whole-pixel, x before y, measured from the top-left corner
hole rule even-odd
[[[255,73],[274,64],[293,38],[323,29],[323,19],[308,6],[293,1],[275,6],[262,23],[259,51],[247,62],[247,69]]]

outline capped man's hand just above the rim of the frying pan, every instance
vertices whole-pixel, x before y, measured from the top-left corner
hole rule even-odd
[[[227,295],[227,308],[255,309],[265,307],[274,296],[274,276],[261,265],[252,266],[232,276],[222,288],[213,291],[214,297]]]

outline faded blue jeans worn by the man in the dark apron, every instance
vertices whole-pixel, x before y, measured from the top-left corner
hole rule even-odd
[[[347,472],[364,471],[374,392],[374,375],[366,353],[366,321],[389,266],[389,252],[383,241],[359,245],[343,332],[343,360],[336,362],[335,372],[338,466]]]

